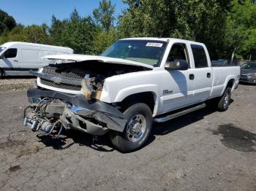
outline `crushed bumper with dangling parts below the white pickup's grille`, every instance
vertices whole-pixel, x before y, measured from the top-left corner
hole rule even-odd
[[[108,130],[122,132],[127,122],[116,107],[88,101],[84,95],[39,88],[30,88],[27,94],[31,106],[24,111],[24,125],[45,135],[57,130],[59,136],[65,128],[101,136]]]

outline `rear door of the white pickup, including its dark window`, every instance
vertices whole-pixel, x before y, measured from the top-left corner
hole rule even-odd
[[[194,67],[189,74],[189,80],[194,81],[194,97],[196,102],[206,101],[211,94],[213,83],[213,69],[206,47],[200,44],[190,44]]]

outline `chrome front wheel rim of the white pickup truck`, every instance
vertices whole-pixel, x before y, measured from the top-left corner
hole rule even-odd
[[[127,138],[129,141],[140,140],[146,131],[146,119],[142,114],[135,114],[127,125]]]

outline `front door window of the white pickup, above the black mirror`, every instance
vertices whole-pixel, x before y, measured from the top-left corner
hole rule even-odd
[[[189,63],[186,44],[173,44],[170,49],[167,61],[184,60]]]

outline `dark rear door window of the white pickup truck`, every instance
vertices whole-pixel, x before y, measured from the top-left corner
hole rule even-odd
[[[195,68],[205,68],[208,67],[206,52],[202,46],[191,44],[194,61],[195,61]]]

